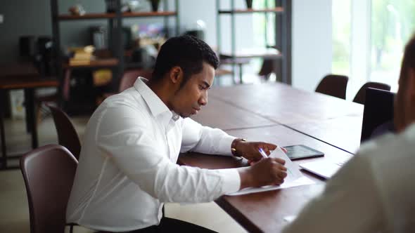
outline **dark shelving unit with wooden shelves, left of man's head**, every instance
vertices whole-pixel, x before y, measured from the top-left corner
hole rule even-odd
[[[63,88],[63,74],[64,69],[96,69],[109,67],[113,69],[113,89],[117,89],[121,75],[126,67],[125,64],[125,49],[122,44],[122,20],[123,18],[163,18],[165,28],[167,29],[168,19],[175,18],[176,34],[179,34],[179,0],[174,1],[174,11],[169,11],[167,0],[163,1],[165,11],[148,11],[148,12],[121,12],[121,0],[113,0],[115,3],[114,13],[87,13],[84,15],[70,15],[59,14],[58,1],[51,0],[51,18],[52,18],[52,33],[53,33],[53,57],[56,58],[56,71],[58,80],[60,81],[59,91]],[[113,55],[112,58],[91,60],[88,65],[70,65],[64,62],[60,53],[60,22],[63,21],[77,21],[77,20],[108,20],[108,47]]]

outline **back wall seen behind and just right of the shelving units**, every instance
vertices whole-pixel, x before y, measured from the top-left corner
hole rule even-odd
[[[103,0],[77,2],[88,12],[105,11]],[[143,4],[146,2],[143,1]],[[229,7],[229,2],[221,1],[221,7]],[[69,6],[74,3],[75,1],[59,1],[60,13],[68,12]],[[211,46],[216,46],[215,1],[180,0],[179,3],[181,30],[191,27],[196,20],[201,19],[206,22],[206,41]],[[49,0],[0,1],[0,14],[4,15],[4,23],[0,24],[0,62],[12,62],[18,59],[19,36],[51,35],[49,4]],[[236,6],[244,7],[243,0],[236,0]],[[125,20],[125,25],[144,23],[148,20],[128,19]],[[314,91],[320,79],[331,72],[331,0],[293,0],[292,20],[293,86]],[[67,46],[88,44],[88,29],[92,25],[106,25],[106,20],[61,22],[62,44]],[[222,46],[229,49],[228,16],[222,16],[222,25]],[[253,28],[249,16],[238,16],[236,27],[237,46],[243,48],[251,44],[252,36],[247,36],[249,34],[247,32],[252,32]]]

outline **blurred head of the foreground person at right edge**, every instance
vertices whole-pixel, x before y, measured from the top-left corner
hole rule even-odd
[[[409,68],[406,80],[400,79],[395,98],[395,128],[403,131],[415,121],[415,70]]]

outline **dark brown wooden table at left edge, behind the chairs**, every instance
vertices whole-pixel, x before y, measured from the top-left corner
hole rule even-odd
[[[31,63],[0,65],[0,95],[12,89],[24,89],[27,129],[32,133],[32,148],[38,146],[37,121],[34,109],[34,88],[58,86],[54,79],[41,79]],[[7,167],[4,107],[0,105],[1,167]]]

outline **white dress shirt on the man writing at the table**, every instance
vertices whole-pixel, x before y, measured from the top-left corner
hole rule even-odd
[[[179,152],[231,155],[231,137],[170,111],[139,78],[91,116],[68,222],[111,232],[158,225],[163,202],[207,202],[236,192],[236,169],[179,166]]]

